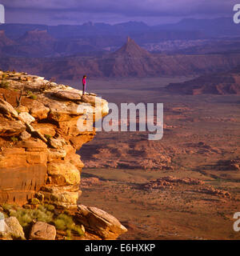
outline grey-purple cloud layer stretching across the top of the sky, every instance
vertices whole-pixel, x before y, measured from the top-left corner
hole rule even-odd
[[[39,17],[92,19],[139,19],[230,16],[235,0],[2,0],[11,13],[32,13]],[[56,16],[57,15],[57,16]],[[90,20],[90,19],[89,19]]]

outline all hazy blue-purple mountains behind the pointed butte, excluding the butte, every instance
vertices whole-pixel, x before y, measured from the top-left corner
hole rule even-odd
[[[158,50],[161,44],[171,54],[206,54],[216,50],[228,51],[232,46],[240,52],[239,38],[238,42],[226,43],[226,40],[232,41],[240,34],[240,26],[234,24],[232,18],[183,19],[175,24],[161,26],[148,26],[143,22],[115,25],[86,22],[79,26],[6,23],[0,25],[0,30],[0,51],[5,56],[38,58],[101,55],[118,49],[128,36],[141,46],[157,44],[155,48],[150,48],[159,53],[162,52]],[[178,40],[181,41],[179,45],[186,47],[178,49]]]

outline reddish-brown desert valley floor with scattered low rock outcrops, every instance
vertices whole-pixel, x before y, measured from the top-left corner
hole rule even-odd
[[[188,79],[89,79],[87,91],[108,102],[164,103],[162,140],[101,132],[79,152],[80,201],[118,218],[129,230],[119,239],[240,238],[240,96],[164,89]]]

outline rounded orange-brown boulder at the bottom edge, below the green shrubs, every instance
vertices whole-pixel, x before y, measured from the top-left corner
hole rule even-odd
[[[31,240],[55,240],[55,238],[55,226],[47,224],[46,222],[36,222],[31,228]]]

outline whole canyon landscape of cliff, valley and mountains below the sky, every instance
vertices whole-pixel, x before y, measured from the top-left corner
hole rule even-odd
[[[0,239],[239,239],[237,26],[0,29]],[[163,138],[78,130],[108,102],[163,103]]]

